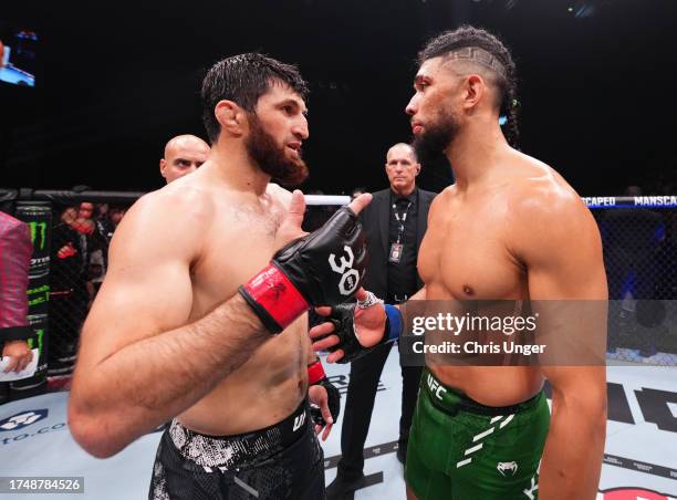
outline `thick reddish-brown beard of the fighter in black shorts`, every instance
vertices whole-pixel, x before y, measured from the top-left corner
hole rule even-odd
[[[287,147],[275,143],[253,113],[249,115],[249,137],[246,146],[249,156],[261,170],[270,175],[271,180],[282,186],[299,186],[308,177],[308,166],[301,158],[301,152],[298,158],[290,159],[287,156]]]

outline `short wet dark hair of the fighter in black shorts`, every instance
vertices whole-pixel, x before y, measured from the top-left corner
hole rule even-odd
[[[221,132],[213,108],[219,101],[237,103],[253,113],[261,95],[274,84],[283,84],[302,98],[308,95],[308,85],[299,70],[259,53],[247,53],[226,58],[216,63],[202,80],[202,123],[210,143],[216,143]]]

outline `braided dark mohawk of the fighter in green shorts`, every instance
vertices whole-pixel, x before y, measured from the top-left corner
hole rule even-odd
[[[478,48],[488,52],[493,59],[490,62],[478,56],[477,60],[464,58],[481,64],[494,75],[499,88],[497,107],[501,115],[506,115],[506,138],[512,147],[517,147],[518,129],[518,100],[515,65],[510,51],[493,34],[471,25],[446,31],[430,40],[423,51],[418,53],[418,63],[439,56],[447,56],[461,49]]]

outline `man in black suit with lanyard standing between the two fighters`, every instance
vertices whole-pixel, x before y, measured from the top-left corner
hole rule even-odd
[[[428,209],[435,194],[416,187],[420,164],[408,144],[388,149],[385,170],[390,187],[374,192],[360,218],[367,235],[369,263],[364,288],[398,304],[423,288],[416,270],[418,248],[427,229]],[[327,500],[364,486],[363,448],[369,430],[376,387],[392,344],[351,364],[351,381],[341,429],[341,452],[336,479],[327,487]],[[402,367],[402,416],[397,458],[404,463],[412,416],[416,406],[421,367]]]

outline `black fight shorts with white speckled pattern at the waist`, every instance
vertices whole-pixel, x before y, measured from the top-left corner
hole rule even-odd
[[[174,420],[153,467],[150,500],[324,498],[324,463],[308,400],[253,433],[207,436]]]

